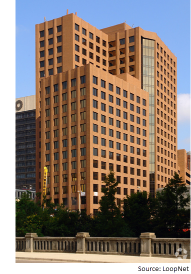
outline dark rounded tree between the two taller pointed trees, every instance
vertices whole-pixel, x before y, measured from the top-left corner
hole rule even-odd
[[[133,193],[123,199],[124,221],[134,231],[135,237],[142,232],[151,232],[153,199],[146,192]]]

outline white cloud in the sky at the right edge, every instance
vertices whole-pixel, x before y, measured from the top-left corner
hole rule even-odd
[[[177,122],[190,123],[190,94],[177,94]]]

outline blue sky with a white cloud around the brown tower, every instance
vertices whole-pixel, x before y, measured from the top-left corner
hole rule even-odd
[[[190,1],[189,0],[16,0],[15,97],[35,94],[35,24],[68,13],[98,29],[126,20],[156,32],[177,57],[178,149],[190,151]]]

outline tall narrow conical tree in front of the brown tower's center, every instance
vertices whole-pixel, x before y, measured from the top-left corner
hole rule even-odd
[[[94,237],[132,237],[127,225],[122,219],[120,206],[115,203],[118,182],[114,172],[105,177],[105,188],[101,188],[103,196],[99,200],[99,211],[94,217]]]

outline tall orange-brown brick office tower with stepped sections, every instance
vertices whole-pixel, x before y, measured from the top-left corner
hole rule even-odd
[[[125,195],[177,171],[176,57],[156,33],[73,13],[36,25],[36,189],[96,213],[109,170]],[[79,199],[79,191],[82,191]]]

